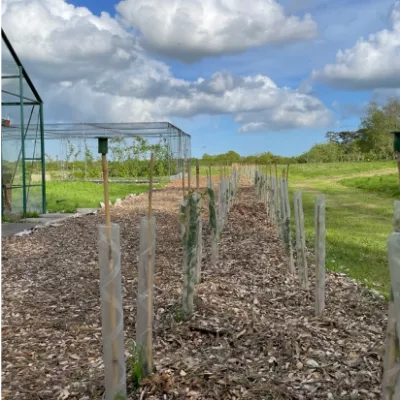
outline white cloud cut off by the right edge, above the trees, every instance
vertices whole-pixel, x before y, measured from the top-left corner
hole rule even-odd
[[[345,89],[400,87],[400,2],[391,11],[392,29],[361,38],[336,54],[334,64],[313,71],[313,78]]]

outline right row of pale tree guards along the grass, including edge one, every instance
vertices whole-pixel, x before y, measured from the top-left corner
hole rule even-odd
[[[277,227],[285,246],[289,273],[294,273],[291,241],[288,168],[278,177],[266,167],[246,166],[245,174],[254,180],[256,192],[264,202],[269,220]],[[294,193],[296,230],[296,259],[300,285],[309,290],[308,267],[304,234],[302,193]],[[315,315],[322,316],[325,309],[325,196],[315,197]],[[391,279],[386,346],[383,365],[382,399],[400,399],[400,201],[394,202],[394,232],[387,241]]]

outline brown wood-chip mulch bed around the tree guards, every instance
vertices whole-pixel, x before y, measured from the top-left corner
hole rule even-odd
[[[180,321],[180,197],[179,183],[154,193],[157,373],[130,399],[380,398],[387,304],[327,274],[326,313],[315,318],[313,278],[307,293],[288,275],[252,188],[240,190],[229,213],[216,267],[205,227],[196,313]],[[127,356],[145,209],[140,196],[112,216],[121,226]],[[0,238],[0,399],[103,398],[96,230],[103,222],[85,216]]]

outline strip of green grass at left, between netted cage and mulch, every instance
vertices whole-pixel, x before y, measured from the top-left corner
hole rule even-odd
[[[155,185],[157,187],[158,185]],[[110,183],[110,200],[123,199],[126,195],[140,194],[148,190],[146,184]],[[98,208],[104,201],[103,185],[92,182],[46,183],[48,212],[75,212],[77,208]],[[63,201],[59,201],[63,200]]]

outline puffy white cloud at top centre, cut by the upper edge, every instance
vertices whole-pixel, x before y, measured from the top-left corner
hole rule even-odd
[[[123,0],[117,11],[145,47],[185,62],[310,39],[317,30],[310,15],[286,16],[276,0]]]

